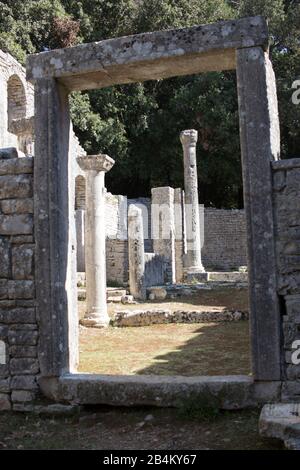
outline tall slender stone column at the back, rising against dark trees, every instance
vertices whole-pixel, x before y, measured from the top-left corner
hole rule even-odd
[[[187,254],[185,257],[185,271],[188,277],[193,275],[197,277],[197,274],[205,273],[201,261],[201,236],[196,161],[197,140],[198,132],[194,129],[185,130],[180,133],[180,141],[183,147],[187,230]]]

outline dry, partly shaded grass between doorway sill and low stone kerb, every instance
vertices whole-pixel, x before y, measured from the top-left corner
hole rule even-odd
[[[81,372],[99,374],[249,374],[248,322],[82,328]]]

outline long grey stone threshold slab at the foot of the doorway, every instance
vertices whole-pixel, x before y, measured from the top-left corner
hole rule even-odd
[[[254,382],[231,376],[113,376],[66,374],[40,378],[42,393],[72,405],[213,406],[224,410],[252,408],[280,400],[281,382]]]

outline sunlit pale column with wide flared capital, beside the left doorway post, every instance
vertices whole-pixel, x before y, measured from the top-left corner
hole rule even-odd
[[[105,327],[109,324],[106,304],[105,184],[104,176],[114,165],[108,155],[77,158],[86,176],[85,272],[87,310],[82,324]]]

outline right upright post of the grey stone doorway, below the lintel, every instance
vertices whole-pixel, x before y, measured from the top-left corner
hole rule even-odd
[[[280,308],[271,172],[271,161],[280,155],[280,131],[275,76],[262,48],[237,50],[237,85],[253,374],[257,380],[280,380]]]

